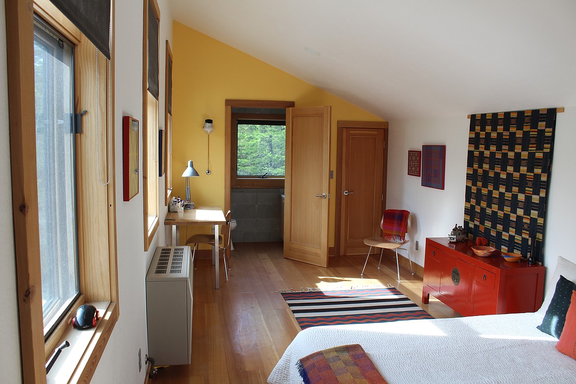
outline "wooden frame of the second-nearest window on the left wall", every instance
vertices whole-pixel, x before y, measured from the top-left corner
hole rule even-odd
[[[144,28],[142,52],[142,184],[144,205],[144,250],[156,235],[160,225],[160,203],[158,202],[158,104],[148,90],[148,2],[152,3],[154,13],[160,24],[160,7],[156,0],[144,0]],[[160,31],[160,26],[158,26]],[[160,47],[160,33],[158,33]],[[160,52],[160,50],[158,50]],[[158,60],[160,63],[160,60]],[[160,74],[158,74],[160,75]],[[160,98],[160,97],[158,97]],[[152,214],[152,215],[150,215]],[[153,216],[151,224],[149,216]]]

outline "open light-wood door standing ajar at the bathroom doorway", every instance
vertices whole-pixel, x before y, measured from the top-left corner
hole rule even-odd
[[[284,257],[328,267],[331,107],[286,108]]]

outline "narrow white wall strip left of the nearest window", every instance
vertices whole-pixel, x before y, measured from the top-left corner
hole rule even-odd
[[[4,0],[0,0],[0,355],[2,379],[19,383],[20,330],[16,296],[16,260],[12,214],[12,179],[10,177],[10,135],[8,123],[8,86],[6,73],[6,18]]]

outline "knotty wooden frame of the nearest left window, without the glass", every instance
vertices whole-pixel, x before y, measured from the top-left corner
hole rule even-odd
[[[112,0],[114,9],[114,0]],[[93,329],[92,337],[86,345],[85,353],[76,355],[70,382],[89,382],[96,370],[119,315],[118,306],[118,265],[116,261],[116,204],[115,177],[107,174],[107,159],[100,159],[98,165],[110,177],[105,187],[97,181],[98,161],[93,148],[95,140],[106,143],[107,130],[95,135],[95,118],[84,116],[83,134],[76,135],[77,146],[77,193],[78,193],[78,274],[81,295],[72,309],[54,332],[44,341],[44,326],[41,303],[41,270],[38,196],[36,179],[36,121],[35,121],[35,82],[33,69],[33,15],[37,14],[49,25],[76,44],[74,74],[77,84],[75,113],[83,109],[94,111],[96,100],[93,89],[94,45],[81,35],[77,28],[64,17],[48,0],[35,0],[33,7],[24,1],[6,2],[7,69],[9,81],[10,118],[10,158],[12,166],[12,195],[14,216],[14,245],[16,254],[18,319],[20,323],[20,345],[22,382],[46,383],[46,360],[55,346],[62,342],[65,332],[71,330],[71,318],[79,305],[84,302],[104,302],[105,311]],[[114,30],[112,13],[112,31]],[[112,60],[108,62],[100,54],[100,78],[103,79],[100,105],[108,105],[99,110],[99,121],[108,121],[107,113],[114,116],[114,47]],[[104,65],[103,65],[104,63]],[[105,102],[108,95],[108,66],[111,66],[109,94],[112,100]],[[84,85],[84,86],[82,86]],[[92,90],[92,91],[91,91]],[[102,124],[106,127],[106,123]],[[111,139],[112,157],[110,167],[115,169],[114,127],[108,127]],[[89,200],[90,199],[90,200]],[[104,204],[94,204],[104,201]],[[96,235],[97,234],[97,235]],[[75,330],[71,330],[74,332]],[[82,331],[78,331],[82,332]],[[67,360],[66,360],[67,361]]]

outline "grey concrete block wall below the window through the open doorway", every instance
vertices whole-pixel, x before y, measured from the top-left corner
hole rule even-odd
[[[232,218],[236,229],[232,242],[282,241],[280,238],[280,195],[283,188],[232,189]]]

